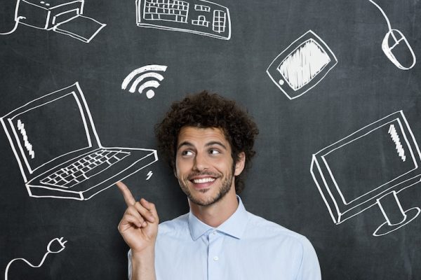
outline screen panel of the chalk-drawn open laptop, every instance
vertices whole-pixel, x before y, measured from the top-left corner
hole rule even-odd
[[[74,92],[19,113],[11,122],[31,173],[61,155],[91,147]]]

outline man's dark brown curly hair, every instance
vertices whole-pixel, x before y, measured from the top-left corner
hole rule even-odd
[[[253,145],[259,133],[257,125],[248,113],[232,100],[206,90],[198,94],[187,95],[180,102],[174,102],[162,122],[155,126],[158,149],[163,158],[175,170],[178,134],[182,127],[218,127],[225,133],[225,138],[232,149],[232,159],[239,160],[241,152],[246,154],[245,170],[250,167],[250,160],[255,155]],[[242,172],[235,179],[236,193],[244,188]]]

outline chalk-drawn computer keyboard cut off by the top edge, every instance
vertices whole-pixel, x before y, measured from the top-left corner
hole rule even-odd
[[[140,27],[231,38],[228,8],[205,0],[136,0],[136,21]]]

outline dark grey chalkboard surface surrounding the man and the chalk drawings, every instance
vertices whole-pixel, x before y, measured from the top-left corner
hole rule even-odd
[[[387,25],[369,1],[216,2],[229,8],[229,41],[137,27],[134,0],[86,0],[84,14],[107,24],[91,43],[20,25],[0,36],[0,116],[79,81],[104,146],[155,148],[154,124],[171,102],[187,92],[219,92],[245,106],[260,127],[241,195],[248,211],[307,236],[323,279],[420,279],[421,218],[385,237],[372,236],[384,221],[378,207],[335,225],[309,167],[313,153],[399,110],[420,140],[421,62],[402,71],[387,59]],[[421,59],[420,1],[377,3]],[[1,6],[0,32],[13,27],[15,3]],[[338,64],[289,100],[265,71],[309,29]],[[155,97],[121,90],[123,78],[147,64],[168,66]],[[85,202],[32,198],[4,133],[0,151],[0,274],[13,258],[39,263],[48,241],[65,237],[65,251],[39,269],[14,262],[9,279],[125,279],[128,248],[116,226],[126,207],[117,188]],[[161,160],[125,182],[136,197],[156,203],[161,221],[188,210]],[[399,198],[406,208],[420,207],[420,195],[416,185]]]

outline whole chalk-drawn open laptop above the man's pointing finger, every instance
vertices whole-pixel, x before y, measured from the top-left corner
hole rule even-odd
[[[88,200],[158,160],[144,148],[105,148],[79,83],[1,118],[31,197]]]

